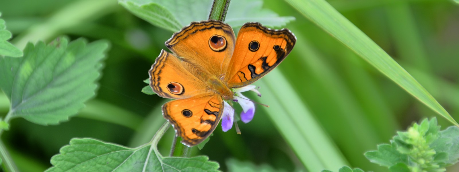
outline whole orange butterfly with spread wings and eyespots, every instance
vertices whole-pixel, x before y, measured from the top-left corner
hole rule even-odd
[[[150,86],[157,95],[175,99],[162,114],[182,143],[194,146],[206,139],[222,117],[231,89],[247,86],[277,67],[293,49],[296,37],[248,22],[239,30],[216,20],[191,22],[165,44],[151,66]]]

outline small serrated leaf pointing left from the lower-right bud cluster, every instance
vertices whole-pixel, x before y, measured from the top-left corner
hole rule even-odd
[[[379,144],[377,151],[369,151],[364,155],[369,161],[381,166],[390,167],[397,163],[408,163],[408,156],[400,154],[395,143]]]

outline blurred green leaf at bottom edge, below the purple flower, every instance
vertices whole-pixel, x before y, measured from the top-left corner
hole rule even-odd
[[[267,164],[256,166],[252,162],[242,162],[234,158],[227,160],[226,166],[228,166],[228,172],[282,172]]]

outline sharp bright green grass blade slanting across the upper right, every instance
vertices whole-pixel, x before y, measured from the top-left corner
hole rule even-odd
[[[325,0],[285,0],[433,111],[459,124],[408,72]]]

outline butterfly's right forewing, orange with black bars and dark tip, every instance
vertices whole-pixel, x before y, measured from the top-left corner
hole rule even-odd
[[[258,22],[244,24],[226,73],[229,88],[240,88],[262,78],[285,59],[296,41],[286,28],[269,29]]]

